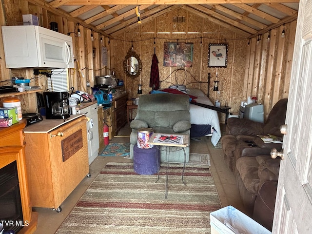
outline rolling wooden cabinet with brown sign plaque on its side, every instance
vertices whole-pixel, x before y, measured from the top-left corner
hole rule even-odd
[[[87,118],[43,119],[25,128],[29,191],[35,207],[55,208],[89,173]],[[51,126],[54,126],[51,128]]]

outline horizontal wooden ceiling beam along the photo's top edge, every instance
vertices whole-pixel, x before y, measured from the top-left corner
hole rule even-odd
[[[63,1],[63,0],[59,0]],[[67,1],[67,0],[66,0]],[[244,0],[244,3],[280,3],[281,0]],[[299,2],[299,0],[283,0],[283,3]],[[234,4],[242,3],[242,0],[70,0],[66,5],[184,5],[184,4]],[[65,4],[63,4],[65,5]]]

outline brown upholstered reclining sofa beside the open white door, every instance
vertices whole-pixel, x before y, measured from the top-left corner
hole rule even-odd
[[[277,184],[280,159],[271,158],[270,153],[272,148],[280,151],[282,144],[264,143],[257,135],[282,137],[280,126],[285,124],[286,109],[287,99],[281,99],[274,105],[265,123],[230,118],[226,135],[221,138],[225,161],[234,173],[247,215],[254,215],[254,219],[269,230],[272,228],[275,203],[263,198],[276,195],[276,189],[272,190],[274,187],[268,186],[267,182]],[[266,204],[263,205],[263,202]]]

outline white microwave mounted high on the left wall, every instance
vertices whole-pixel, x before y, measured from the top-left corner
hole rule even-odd
[[[73,39],[36,25],[2,26],[7,68],[74,68]]]

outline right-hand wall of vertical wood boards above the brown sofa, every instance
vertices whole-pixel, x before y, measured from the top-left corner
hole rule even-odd
[[[288,98],[296,23],[292,21],[261,35],[259,43],[255,37],[247,47],[243,96],[257,97],[258,103],[264,104],[265,118],[278,100]]]

